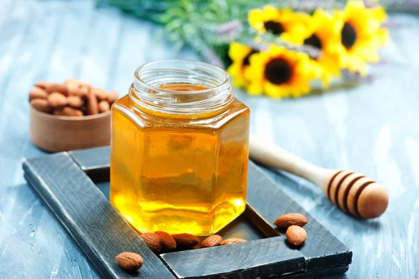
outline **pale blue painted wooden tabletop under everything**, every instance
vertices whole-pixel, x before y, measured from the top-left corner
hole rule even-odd
[[[309,182],[266,170],[353,250],[338,278],[419,278],[419,18],[391,19],[398,26],[370,83],[299,100],[235,92],[251,109],[251,133],[388,190],[381,218],[356,220]],[[68,77],[122,94],[142,63],[198,59],[160,31],[90,1],[0,1],[0,278],[98,278],[23,179],[22,158],[45,154],[29,141],[27,94],[38,80]]]

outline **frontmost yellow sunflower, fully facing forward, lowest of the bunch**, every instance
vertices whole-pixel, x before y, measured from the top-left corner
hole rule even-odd
[[[249,80],[250,94],[265,92],[270,97],[288,98],[309,93],[309,82],[315,75],[308,54],[271,45],[267,51],[251,55],[249,60],[244,76]]]

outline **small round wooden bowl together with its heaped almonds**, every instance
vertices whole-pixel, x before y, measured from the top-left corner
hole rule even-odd
[[[30,136],[50,152],[87,149],[110,144],[110,106],[118,99],[87,82],[36,82],[29,92]]]

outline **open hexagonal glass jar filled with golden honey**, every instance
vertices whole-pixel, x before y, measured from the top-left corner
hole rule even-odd
[[[110,201],[140,232],[218,232],[246,207],[249,114],[219,67],[141,66],[112,105]]]

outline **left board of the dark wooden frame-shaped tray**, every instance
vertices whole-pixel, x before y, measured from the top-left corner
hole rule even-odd
[[[25,178],[101,277],[174,278],[67,153],[25,160],[23,168]],[[121,269],[115,262],[121,252],[140,254],[142,269]]]

